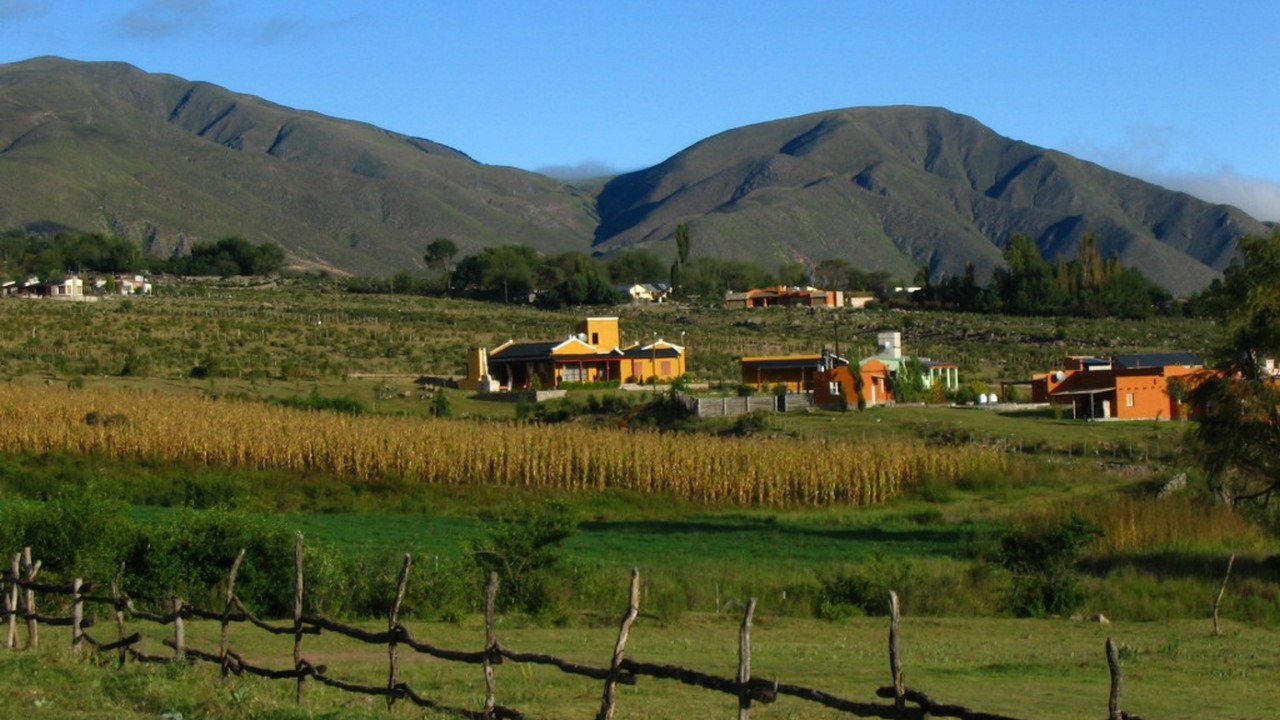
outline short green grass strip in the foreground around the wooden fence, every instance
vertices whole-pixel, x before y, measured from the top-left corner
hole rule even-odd
[[[623,594],[625,580],[618,583]],[[621,610],[620,610],[621,611]],[[655,624],[641,616],[632,629],[628,657],[675,664],[722,676],[737,665],[739,612],[687,616]],[[376,625],[370,624],[371,629]],[[461,624],[411,623],[419,639],[442,647],[475,650],[484,643],[479,619]],[[191,647],[216,651],[216,625],[188,623]],[[498,639],[517,651],[548,652],[590,665],[605,665],[616,628],[558,628],[503,623]],[[148,629],[146,651],[166,652],[163,629]],[[753,675],[874,702],[888,684],[884,619],[823,623],[771,616],[758,610]],[[1101,717],[1107,711],[1108,673],[1103,646],[1112,638],[1124,671],[1121,707],[1143,717],[1270,720],[1280,716],[1280,694],[1271,691],[1280,670],[1280,632],[1228,623],[1213,637],[1208,620],[1175,623],[1071,623],[1065,620],[913,619],[902,621],[902,661],[908,687],[970,710],[1028,720]],[[46,634],[46,642],[55,639]],[[271,638],[237,626],[232,647],[271,667],[292,665],[292,638]],[[447,705],[479,708],[484,682],[477,666],[416,657],[404,652],[402,678],[420,693]],[[348,682],[384,683],[385,648],[361,646],[333,634],[307,637],[303,657],[324,664]],[[495,667],[497,700],[529,717],[590,717],[599,707],[600,684],[558,670],[507,662]],[[65,647],[0,653],[0,715],[6,717],[385,717],[381,700],[340,693],[315,683],[294,703],[293,683],[219,678],[216,666],[142,666],[120,670],[76,660]],[[641,678],[618,692],[620,717],[713,717],[733,712],[736,701],[672,680]],[[165,715],[170,714],[170,715]],[[390,716],[421,716],[401,703]],[[783,697],[756,705],[751,717],[840,717],[832,710]]]

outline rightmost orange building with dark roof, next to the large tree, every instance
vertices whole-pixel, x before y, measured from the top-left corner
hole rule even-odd
[[[1187,416],[1170,396],[1169,380],[1203,372],[1190,352],[1146,352],[1101,357],[1068,357],[1061,370],[1032,378],[1032,400],[1071,406],[1073,418],[1169,420]]]

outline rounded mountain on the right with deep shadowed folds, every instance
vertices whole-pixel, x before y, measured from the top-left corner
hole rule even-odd
[[[695,254],[814,263],[844,258],[911,277],[979,275],[1014,233],[1050,260],[1094,233],[1105,255],[1175,292],[1202,288],[1244,233],[1267,227],[932,108],[861,108],[732,129],[598,197],[596,250],[669,254],[689,223]]]

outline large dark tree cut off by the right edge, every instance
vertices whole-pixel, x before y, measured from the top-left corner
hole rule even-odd
[[[1211,372],[1192,391],[1199,411],[1192,432],[1196,457],[1213,489],[1231,503],[1267,502],[1280,491],[1280,232],[1244,237],[1243,263],[1226,270],[1213,301],[1226,338]]]

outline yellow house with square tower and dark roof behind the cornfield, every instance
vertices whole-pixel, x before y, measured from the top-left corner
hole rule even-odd
[[[468,361],[463,387],[481,365],[504,389],[554,388],[561,383],[669,380],[685,374],[685,348],[657,338],[646,345],[620,347],[617,318],[586,318],[573,334],[545,342],[507,341],[488,351],[485,360]],[[475,351],[472,351],[475,352]]]

